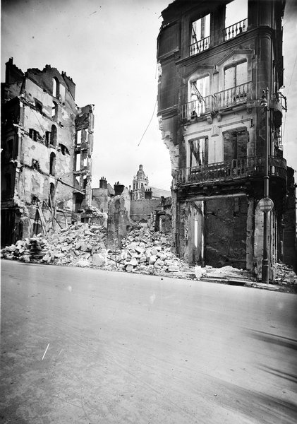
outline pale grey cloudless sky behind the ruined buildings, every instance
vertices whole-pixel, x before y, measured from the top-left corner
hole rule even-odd
[[[2,0],[5,62],[50,64],[76,84],[78,107],[95,105],[92,187],[100,177],[132,185],[140,164],[152,187],[170,189],[169,151],[157,120],[157,35],[171,0]],[[284,157],[297,170],[297,2],[284,16]],[[148,128],[147,128],[148,126]],[[145,134],[144,134],[145,133]],[[297,179],[297,175],[295,174]]]

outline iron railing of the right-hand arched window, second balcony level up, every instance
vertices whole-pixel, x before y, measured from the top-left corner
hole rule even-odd
[[[214,109],[241,105],[253,99],[253,84],[251,81],[240,86],[228,88],[214,94]]]

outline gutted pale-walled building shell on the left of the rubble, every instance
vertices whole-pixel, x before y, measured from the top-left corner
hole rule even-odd
[[[56,68],[6,63],[1,84],[1,246],[79,220],[91,199],[93,106]]]

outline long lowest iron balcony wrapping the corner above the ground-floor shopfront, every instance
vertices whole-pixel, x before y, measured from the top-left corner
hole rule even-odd
[[[193,185],[205,182],[230,181],[265,175],[265,158],[238,158],[226,162],[211,163],[201,167],[176,170],[175,185]],[[269,176],[286,179],[286,160],[269,156]]]

